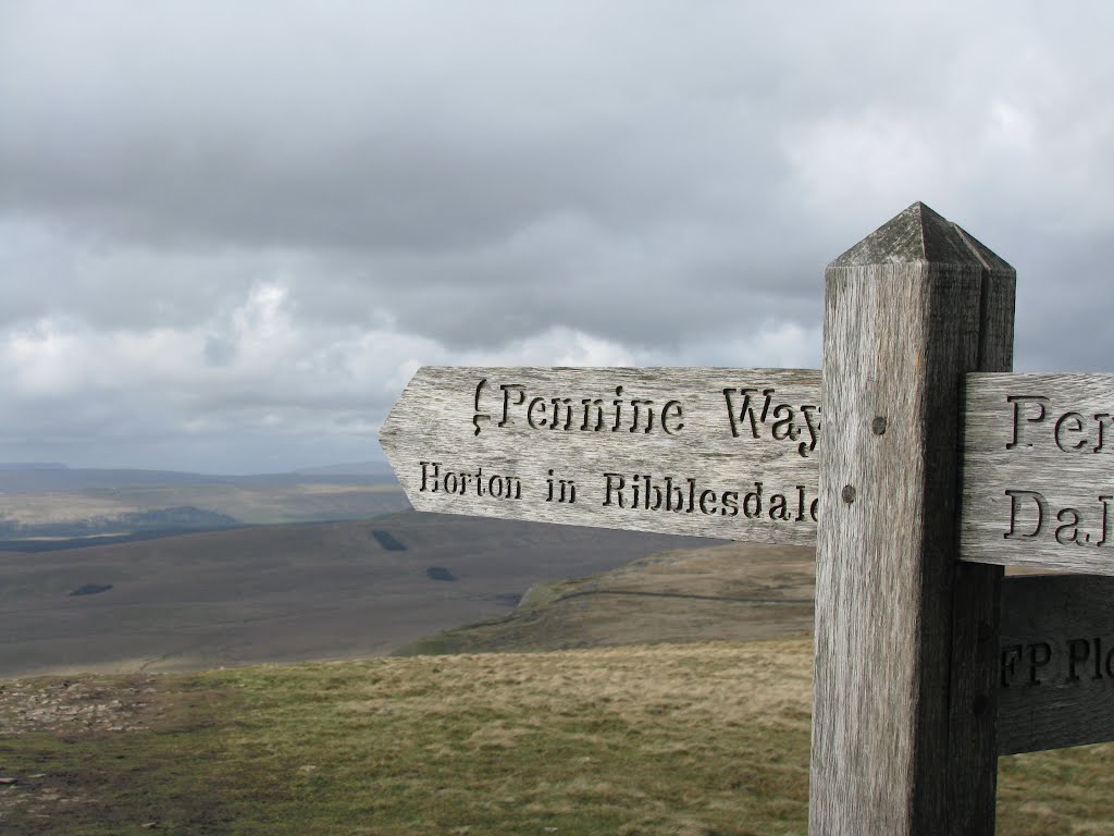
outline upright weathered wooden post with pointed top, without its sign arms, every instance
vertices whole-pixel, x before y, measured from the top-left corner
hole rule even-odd
[[[956,620],[978,634],[955,597],[960,387],[980,359],[1008,359],[995,343],[1012,336],[984,328],[1013,309],[1008,289],[987,291],[990,272],[915,204],[824,274],[814,836],[994,830],[978,742],[993,742],[993,716],[971,717],[976,742],[955,745],[954,698],[980,682],[957,693],[951,667]],[[980,604],[975,618],[993,610]]]

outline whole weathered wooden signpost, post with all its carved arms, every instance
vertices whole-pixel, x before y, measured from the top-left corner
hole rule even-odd
[[[924,204],[824,276],[821,371],[423,368],[380,440],[419,511],[815,543],[810,833],[993,834],[1114,739],[1114,579],[1000,565],[1114,574],[1114,378],[973,373],[1014,270]]]

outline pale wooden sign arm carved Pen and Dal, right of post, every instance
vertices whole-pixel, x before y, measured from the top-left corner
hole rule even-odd
[[[970,375],[960,557],[1114,574],[1114,376]]]

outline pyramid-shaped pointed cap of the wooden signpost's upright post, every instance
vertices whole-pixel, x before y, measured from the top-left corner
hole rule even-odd
[[[927,205],[918,201],[890,218],[828,266],[866,264],[976,264],[1013,271],[1005,261]]]

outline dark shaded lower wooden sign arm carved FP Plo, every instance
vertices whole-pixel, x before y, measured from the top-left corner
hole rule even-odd
[[[1003,584],[998,751],[1114,740],[1114,579],[1028,575]]]

